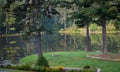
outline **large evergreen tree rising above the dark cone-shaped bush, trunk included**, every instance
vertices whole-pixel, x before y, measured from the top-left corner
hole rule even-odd
[[[13,3],[19,2],[15,0],[7,0],[4,6],[6,12],[10,12],[10,7]],[[54,2],[54,1],[53,1]],[[24,38],[28,38],[31,34],[34,34],[36,38],[36,48],[38,49],[38,57],[42,55],[41,46],[41,32],[51,32],[50,19],[58,12],[53,8],[52,1],[46,0],[20,0],[20,4],[14,8],[14,16],[16,23],[21,24],[24,27]]]

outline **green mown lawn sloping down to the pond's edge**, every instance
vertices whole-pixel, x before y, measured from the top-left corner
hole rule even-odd
[[[52,54],[59,56],[53,57]],[[92,68],[102,68],[103,72],[119,72],[120,62],[98,60],[87,58],[87,54],[95,54],[95,52],[51,52],[44,53],[44,56],[49,61],[50,66],[64,66],[64,67],[77,67],[82,68],[89,65]],[[22,63],[36,63],[37,55],[27,56],[22,58]]]

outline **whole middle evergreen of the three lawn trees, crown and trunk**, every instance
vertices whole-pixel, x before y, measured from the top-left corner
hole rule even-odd
[[[75,1],[75,4],[78,6],[78,10],[73,12],[73,18],[75,18],[75,24],[77,27],[86,26],[86,51],[90,51],[90,35],[89,35],[89,24],[92,22],[92,13],[91,8],[92,0],[83,0]]]

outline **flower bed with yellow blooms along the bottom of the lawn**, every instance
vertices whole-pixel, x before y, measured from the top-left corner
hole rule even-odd
[[[16,70],[25,70],[25,71],[35,71],[35,72],[96,72],[96,69],[92,68],[69,68],[63,66],[57,67],[42,67],[38,65],[13,65],[9,67],[4,67],[5,69],[16,69]]]

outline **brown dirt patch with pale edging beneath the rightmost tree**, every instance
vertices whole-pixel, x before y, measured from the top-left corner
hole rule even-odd
[[[113,54],[87,55],[87,57],[103,59],[103,60],[120,61],[120,55],[113,55]]]

